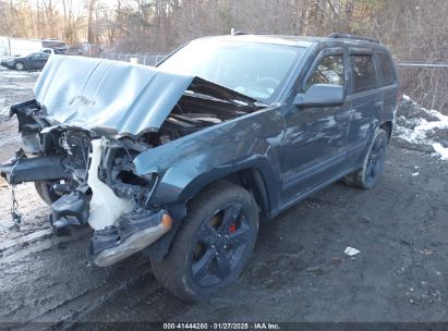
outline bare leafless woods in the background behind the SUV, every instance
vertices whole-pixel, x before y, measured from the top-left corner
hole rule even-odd
[[[257,34],[351,33],[380,39],[400,60],[446,61],[446,0],[0,0],[0,34],[168,52],[230,28]],[[403,90],[448,111],[444,70],[402,69]],[[428,93],[431,91],[431,93]]]

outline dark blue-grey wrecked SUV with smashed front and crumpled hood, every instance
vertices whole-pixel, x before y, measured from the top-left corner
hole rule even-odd
[[[92,265],[142,250],[194,301],[237,280],[259,220],[378,181],[398,90],[387,49],[349,35],[203,38],[157,68],[53,56],[0,170],[35,183],[57,234],[93,228]]]

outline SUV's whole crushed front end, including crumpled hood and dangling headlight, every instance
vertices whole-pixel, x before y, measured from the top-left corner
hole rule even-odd
[[[51,57],[34,93],[11,107],[22,149],[0,174],[11,185],[45,183],[56,234],[89,225],[89,259],[100,267],[147,247],[161,259],[185,214],[186,201],[152,199],[164,169],[137,173],[135,159],[255,109],[198,77],[76,57]]]

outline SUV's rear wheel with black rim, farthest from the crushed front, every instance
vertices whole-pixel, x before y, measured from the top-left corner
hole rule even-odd
[[[368,147],[367,155],[364,158],[362,168],[349,174],[343,182],[349,186],[355,186],[368,189],[378,182],[387,154],[387,134],[383,128],[378,128]]]

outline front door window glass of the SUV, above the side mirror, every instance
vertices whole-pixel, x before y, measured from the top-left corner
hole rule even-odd
[[[328,56],[322,59],[319,65],[306,83],[305,90],[314,84],[332,84],[343,86],[343,58]]]

